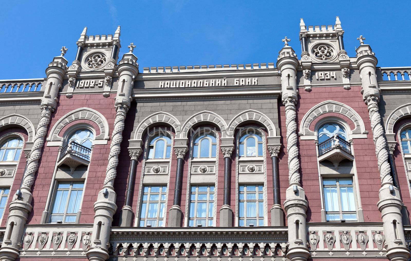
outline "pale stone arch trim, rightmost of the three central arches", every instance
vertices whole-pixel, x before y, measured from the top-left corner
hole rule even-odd
[[[247,110],[237,114],[236,117],[234,117],[229,123],[229,127],[227,129],[227,136],[233,138],[236,127],[240,123],[245,122],[247,120],[253,120],[263,124],[267,128],[269,137],[277,136],[277,132],[274,123],[272,123],[272,120],[270,120],[270,118],[268,118],[267,115],[265,115],[264,113],[255,110]]]

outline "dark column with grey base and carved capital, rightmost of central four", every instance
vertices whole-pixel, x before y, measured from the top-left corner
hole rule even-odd
[[[270,209],[271,212],[271,226],[284,226],[284,211],[280,203],[280,181],[278,171],[278,153],[280,146],[268,146],[268,152],[271,156],[272,165],[272,194],[274,197],[274,204]]]

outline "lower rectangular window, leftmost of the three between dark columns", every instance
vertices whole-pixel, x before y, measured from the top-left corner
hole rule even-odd
[[[144,187],[139,226],[164,226],[166,186]]]

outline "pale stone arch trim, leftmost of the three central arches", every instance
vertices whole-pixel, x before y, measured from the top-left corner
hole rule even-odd
[[[147,116],[144,120],[141,121],[139,126],[136,128],[136,132],[134,133],[134,140],[141,140],[143,137],[143,132],[145,129],[150,126],[152,123],[155,122],[164,122],[171,125],[174,128],[175,136],[179,137],[180,134],[180,122],[170,113],[166,113],[164,111],[159,111],[157,113],[153,113]]]

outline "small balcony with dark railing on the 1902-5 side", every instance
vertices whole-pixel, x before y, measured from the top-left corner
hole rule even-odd
[[[75,141],[70,141],[61,151],[58,166],[65,164],[70,167],[70,174],[80,166],[90,164],[91,149]]]

